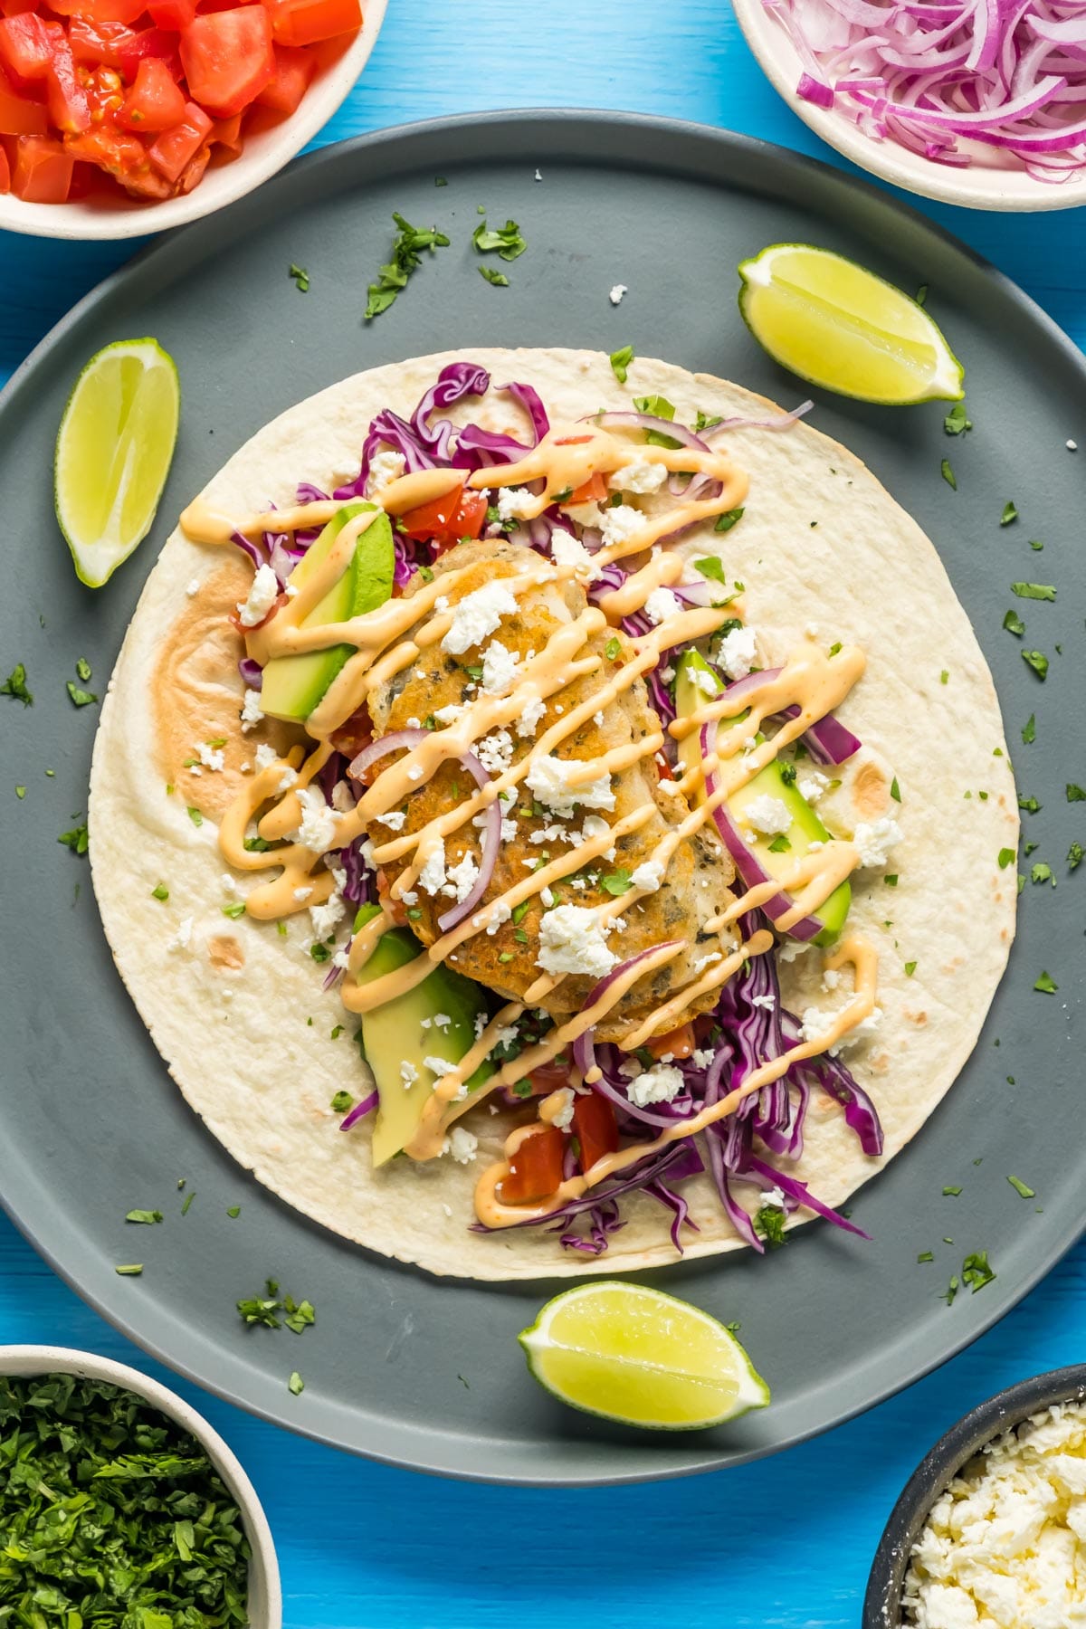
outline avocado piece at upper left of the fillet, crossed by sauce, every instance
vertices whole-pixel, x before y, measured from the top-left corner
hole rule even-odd
[[[376,508],[374,503],[345,503],[332,515],[321,536],[291,572],[291,583],[304,588],[316,569],[327,559],[329,549],[355,515]],[[319,627],[322,622],[345,622],[363,611],[376,611],[392,593],[396,551],[392,526],[381,513],[355,542],[350,565],[340,580],[329,588],[324,599],[301,622],[303,627]],[[296,656],[272,656],[264,670],[261,707],[270,718],[308,718],[329,684],[353,655],[352,645],[332,645],[329,650],[306,650]]]

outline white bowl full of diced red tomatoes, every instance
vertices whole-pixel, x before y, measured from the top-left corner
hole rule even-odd
[[[388,0],[0,0],[0,228],[132,238],[233,202],[335,112]]]

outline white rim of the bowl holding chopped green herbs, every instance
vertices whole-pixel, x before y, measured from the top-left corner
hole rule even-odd
[[[256,1495],[252,1482],[241,1464],[202,1414],[156,1380],[148,1380],[127,1363],[114,1363],[93,1352],[75,1352],[67,1346],[0,1346],[0,1375],[78,1375],[81,1380],[104,1380],[125,1391],[135,1391],[151,1407],[168,1414],[184,1430],[190,1432],[207,1450],[207,1456],[226,1484],[249,1539],[249,1626],[251,1629],[282,1629],[283,1592],[278,1582],[278,1562],[267,1517]]]

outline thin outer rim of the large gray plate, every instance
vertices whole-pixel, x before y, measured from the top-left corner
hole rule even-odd
[[[0,422],[3,414],[13,411],[15,404],[24,386],[31,384],[33,376],[39,363],[46,362],[49,352],[62,340],[67,339],[70,329],[77,327],[83,318],[91,314],[99,303],[107,301],[117,288],[122,288],[132,275],[138,275],[147,262],[153,262],[160,257],[176,252],[176,248],[182,243],[192,241],[200,233],[213,231],[221,218],[231,213],[239,213],[249,199],[270,199],[277,187],[288,184],[296,171],[317,169],[327,163],[350,163],[353,155],[365,155],[370,150],[379,150],[397,143],[412,143],[420,140],[441,140],[451,138],[459,132],[469,132],[477,127],[500,129],[516,129],[537,127],[541,130],[562,132],[562,127],[575,122],[596,125],[596,127],[612,127],[612,129],[630,129],[630,130],[651,130],[655,135],[661,137],[663,142],[674,140],[694,140],[715,147],[723,155],[731,158],[741,155],[759,155],[764,160],[793,173],[803,174],[809,171],[822,179],[822,182],[832,182],[835,187],[847,189],[850,192],[866,194],[873,202],[881,207],[889,209],[899,218],[904,220],[912,230],[920,230],[928,238],[941,241],[946,248],[952,249],[956,254],[964,254],[974,267],[990,279],[1014,306],[1023,311],[1023,314],[1036,326],[1039,326],[1047,339],[1055,344],[1057,350],[1063,353],[1065,362],[1079,375],[1083,388],[1086,391],[1086,353],[1070,339],[1068,334],[1055,323],[1053,318],[1044,311],[1031,295],[1027,295],[1011,277],[993,266],[985,256],[979,254],[970,244],[964,243],[954,233],[948,231],[938,222],[930,220],[912,204],[899,199],[894,192],[865,178],[856,178],[847,169],[835,163],[827,163],[821,158],[812,158],[806,153],[796,153],[786,147],[775,142],[765,142],[759,137],[742,135],[739,132],[729,130],[723,125],[707,125],[697,121],[687,119],[671,119],[658,117],[655,114],[645,114],[637,111],[615,111],[615,109],[585,109],[585,108],[511,108],[511,109],[488,109],[484,112],[472,114],[449,114],[440,119],[423,119],[412,121],[407,124],[389,125],[379,130],[365,132],[357,137],[350,137],[344,142],[332,142],[322,148],[295,158],[290,165],[272,176],[262,187],[239,199],[225,210],[213,215],[202,217],[184,226],[176,228],[163,236],[155,238],[151,243],[145,244],[132,259],[125,261],[116,270],[109,272],[101,282],[98,282],[86,295],[83,295],[34,345],[34,349],[23,358],[23,362],[15,368],[8,383],[0,389]],[[501,145],[492,148],[493,155],[501,155]],[[446,153],[446,161],[451,155]],[[472,160],[475,161],[475,160]],[[593,155],[589,151],[589,161]],[[599,160],[607,163],[607,160]],[[659,168],[666,169],[668,155],[664,147],[659,150]],[[1006,976],[1006,974],[1005,974]],[[1001,986],[1003,981],[1000,981]],[[972,1056],[972,1054],[970,1054]],[[795,1448],[803,1442],[809,1442],[814,1437],[824,1435],[848,1420],[856,1419],[860,1414],[868,1412],[873,1407],[886,1403],[889,1398],[917,1381],[923,1380],[926,1375],[933,1373],[936,1368],[948,1363],[952,1357],[957,1357],[962,1350],[972,1346],[974,1341],[980,1339],[988,1329],[992,1329],[1001,1318],[1018,1306],[1026,1295],[1031,1293],[1040,1284],[1040,1280],[1066,1256],[1066,1253],[1086,1235],[1086,1214],[1078,1218],[1071,1218],[1070,1223],[1060,1230],[1052,1240],[1050,1246],[1037,1258],[1034,1266],[1024,1277],[1011,1289],[1003,1290],[1005,1298],[993,1297],[992,1302],[985,1303],[990,1310],[982,1310],[975,1323],[956,1334],[948,1344],[941,1344],[938,1355],[928,1359],[925,1357],[918,1367],[915,1367],[907,1378],[896,1378],[884,1385],[879,1385],[873,1394],[869,1394],[863,1403],[856,1406],[848,1406],[842,1412],[835,1414],[832,1419],[811,1424],[806,1429],[793,1430],[786,1437],[775,1438],[773,1442],[755,1443],[749,1448],[721,1451],[712,1448],[702,1458],[695,1461],[685,1461],[682,1464],[661,1464],[659,1468],[645,1466],[640,1463],[635,1469],[620,1471],[589,1471],[586,1474],[570,1474],[567,1468],[560,1468],[557,1474],[516,1474],[505,1469],[474,1469],[464,1468],[462,1464],[449,1463],[449,1456],[444,1456],[435,1447],[428,1455],[412,1453],[412,1451],[388,1451],[373,1445],[361,1445],[344,1442],[337,1438],[329,1430],[319,1425],[309,1425],[301,1419],[291,1419],[283,1411],[275,1411],[272,1406],[265,1406],[261,1401],[252,1401],[241,1396],[231,1385],[218,1380],[210,1380],[199,1372],[187,1359],[177,1359],[171,1355],[163,1346],[155,1339],[153,1331],[148,1334],[137,1333],[130,1319],[124,1315],[120,1308],[112,1310],[98,1295],[98,1292],[90,1287],[83,1287],[77,1274],[68,1271],[62,1261],[57,1258],[55,1251],[47,1248],[39,1241],[36,1228],[31,1222],[23,1220],[10,1201],[7,1188],[0,1188],[0,1209],[16,1227],[16,1230],[28,1240],[33,1249],[52,1267],[52,1271],[68,1285],[88,1306],[91,1306],[101,1318],[106,1319],[114,1329],[117,1329],[125,1339],[132,1341],[142,1352],[145,1352],[153,1360],[163,1363],[168,1370],[176,1375],[184,1377],[194,1385],[200,1386],[212,1396],[220,1398],[247,1414],[267,1420],[272,1425],[295,1432],[313,1442],[326,1443],[332,1448],[339,1448],[345,1453],[357,1455],[365,1460],[371,1460],[379,1464],[394,1466],[397,1469],[417,1471],[431,1476],[441,1476],[453,1481],[466,1482],[482,1482],[505,1487],[612,1487],[612,1486],[637,1486],[640,1482],[661,1482],[672,1481],[685,1476],[700,1476],[708,1471],[726,1469],[729,1466],[747,1464],[755,1460],[769,1458],[770,1455],[783,1453],[788,1448]],[[324,1230],[322,1230],[324,1232]],[[547,1279],[542,1276],[539,1280],[531,1280],[545,1284]],[[458,1440],[461,1434],[458,1432]],[[435,1463],[436,1461],[436,1463]]]

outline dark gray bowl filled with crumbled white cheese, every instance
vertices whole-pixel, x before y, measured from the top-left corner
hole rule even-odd
[[[874,1552],[863,1629],[1086,1622],[1086,1363],[1019,1380],[917,1466]]]

